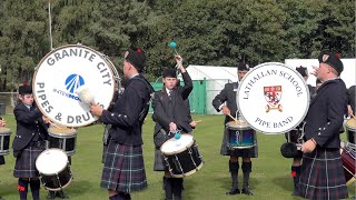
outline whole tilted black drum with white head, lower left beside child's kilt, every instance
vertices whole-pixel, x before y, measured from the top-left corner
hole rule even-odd
[[[47,149],[36,160],[42,184],[50,191],[66,188],[72,179],[68,157],[61,149]]]

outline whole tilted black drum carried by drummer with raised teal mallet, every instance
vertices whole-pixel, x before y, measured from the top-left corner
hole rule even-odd
[[[171,138],[160,148],[172,177],[182,178],[197,172],[202,167],[202,157],[191,134]]]

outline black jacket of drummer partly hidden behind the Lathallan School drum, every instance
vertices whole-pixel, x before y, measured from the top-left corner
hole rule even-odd
[[[238,82],[226,83],[224,89],[212,100],[212,107],[220,112],[219,107],[226,102],[227,108],[230,109],[231,116],[236,118],[237,103],[236,93],[238,89]],[[231,121],[229,117],[225,118],[225,123]]]

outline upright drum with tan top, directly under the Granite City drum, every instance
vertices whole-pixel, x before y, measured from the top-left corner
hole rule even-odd
[[[77,129],[51,127],[48,129],[47,149],[58,148],[63,150],[67,156],[76,153]]]

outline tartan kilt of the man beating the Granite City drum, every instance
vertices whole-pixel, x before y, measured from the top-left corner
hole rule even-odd
[[[125,193],[147,188],[142,147],[119,144],[110,140],[100,187]]]

